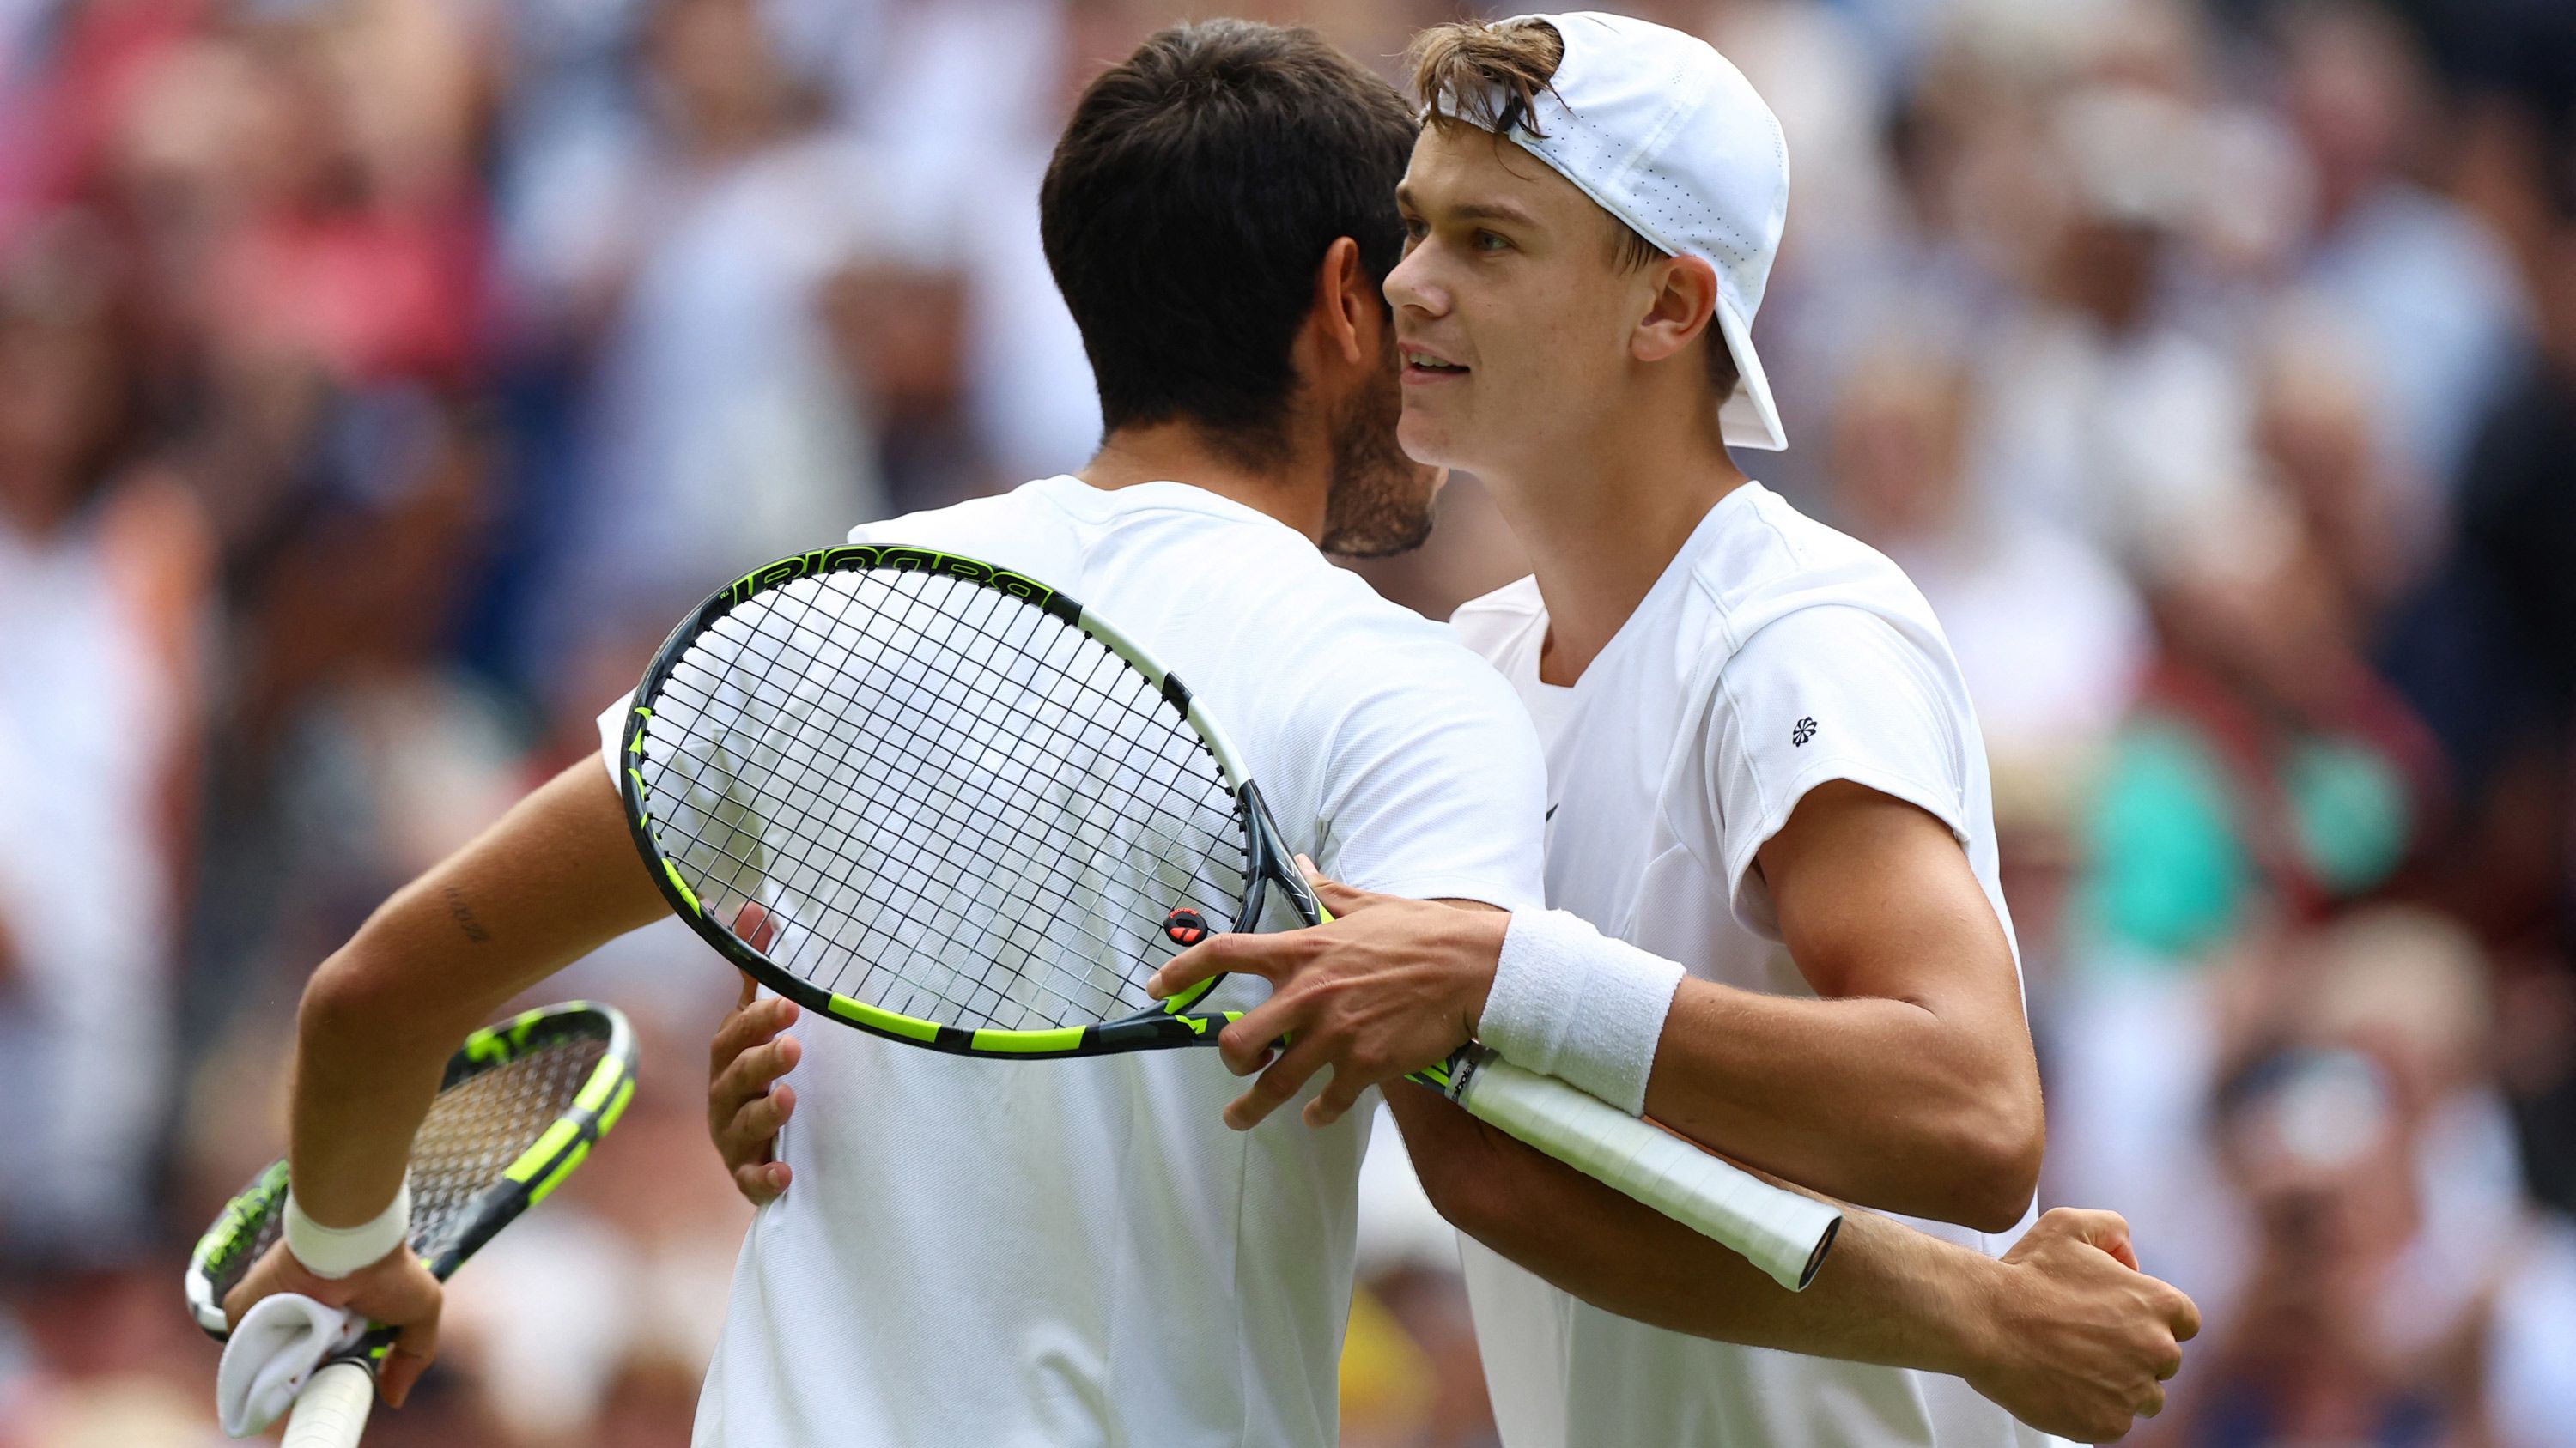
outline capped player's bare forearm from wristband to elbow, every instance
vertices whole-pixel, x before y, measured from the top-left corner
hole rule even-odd
[[[1646,1116],[1824,1196],[1986,1232],[2022,1216],[2038,1175],[2017,1015],[1682,982]]]

